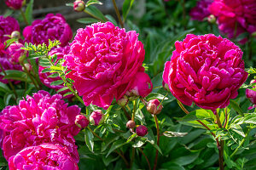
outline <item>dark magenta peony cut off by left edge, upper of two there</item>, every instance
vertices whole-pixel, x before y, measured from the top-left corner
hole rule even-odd
[[[3,15],[0,15],[0,42],[5,42],[9,39],[13,31],[20,31],[20,25],[17,20],[13,17],[4,18]]]

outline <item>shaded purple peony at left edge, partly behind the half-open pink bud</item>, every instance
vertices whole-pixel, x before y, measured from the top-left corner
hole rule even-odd
[[[11,62],[12,58],[8,52],[8,50],[5,49],[5,45],[0,42],[0,64],[3,66],[4,71],[7,70],[17,70],[21,71],[22,67],[20,65],[16,65],[15,63]],[[0,68],[0,72],[2,72],[2,69]],[[19,81],[10,80],[11,82],[18,83]],[[3,75],[0,75],[0,82],[8,83],[7,79],[3,79]]]

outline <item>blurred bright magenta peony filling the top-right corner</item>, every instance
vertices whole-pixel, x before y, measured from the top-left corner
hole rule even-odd
[[[246,31],[256,31],[255,0],[214,0],[209,11],[217,17],[218,29],[228,34],[229,38]]]

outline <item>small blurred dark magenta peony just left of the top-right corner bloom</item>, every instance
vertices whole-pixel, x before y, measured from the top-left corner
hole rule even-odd
[[[191,9],[189,15],[192,20],[204,20],[210,15],[208,7],[212,4],[213,0],[200,0],[196,3],[196,6]]]

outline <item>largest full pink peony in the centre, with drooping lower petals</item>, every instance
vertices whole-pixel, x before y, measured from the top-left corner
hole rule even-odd
[[[65,60],[84,104],[108,109],[113,97],[119,100],[132,88],[137,72],[144,71],[144,55],[136,31],[125,32],[106,22],[79,29]]]

